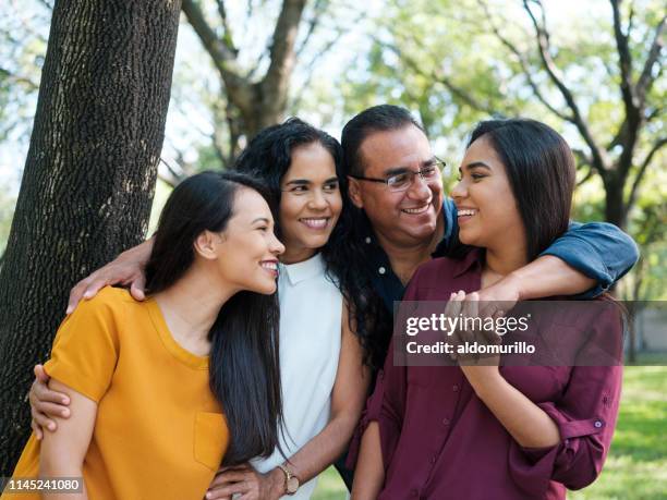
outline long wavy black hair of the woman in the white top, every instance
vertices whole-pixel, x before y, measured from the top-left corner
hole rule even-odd
[[[342,198],[342,210],[329,241],[320,249],[326,264],[327,275],[337,284],[350,307],[350,329],[355,332],[364,350],[364,362],[381,365],[384,356],[377,353],[377,318],[386,316],[379,298],[373,293],[372,284],[365,273],[355,272],[357,263],[364,255],[357,246],[363,241],[354,235],[352,206],[348,197],[348,178],[343,169],[343,154],[340,143],[298,118],[264,129],[241,154],[234,169],[248,173],[266,182],[270,190],[271,208],[275,214],[277,234],[280,234],[279,206],[282,192],[280,183],[292,163],[292,153],[300,146],[320,144],[333,159],[336,175]],[[379,337],[387,337],[383,334]],[[386,350],[386,347],[384,347]],[[378,361],[379,359],[379,361]]]

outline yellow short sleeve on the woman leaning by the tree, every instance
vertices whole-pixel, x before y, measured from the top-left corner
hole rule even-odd
[[[96,403],[111,383],[119,353],[110,298],[102,290],[82,301],[58,329],[51,357],[45,364],[50,377]]]

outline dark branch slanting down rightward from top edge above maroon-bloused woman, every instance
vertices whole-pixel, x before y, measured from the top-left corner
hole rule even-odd
[[[549,45],[549,34],[546,29],[546,26],[541,26],[539,22],[533,14],[529,5],[529,1],[535,3],[542,10],[542,19],[545,19],[544,7],[539,0],[523,0],[523,8],[527,12],[531,21],[533,23],[533,27],[535,29],[535,36],[537,41],[537,49],[539,51],[539,57],[542,59],[542,63],[549,75],[551,82],[556,85],[563,99],[568,103],[568,107],[572,111],[572,123],[583,137],[584,142],[591,149],[592,155],[592,166],[599,172],[599,174],[604,178],[607,174],[607,161],[605,151],[597,145],[593,135],[591,134],[591,130],[589,129],[587,123],[585,122],[577,101],[574,100],[574,96],[563,83],[561,76],[559,75],[559,70],[557,69],[551,54],[550,54],[550,45]]]

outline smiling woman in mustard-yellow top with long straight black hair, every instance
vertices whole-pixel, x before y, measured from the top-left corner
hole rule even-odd
[[[150,298],[108,288],[82,302],[46,364],[71,417],[31,437],[13,477],[83,476],[83,490],[2,500],[201,499],[221,464],[271,454],[282,418],[271,294],[284,247],[266,199],[239,173],[173,191],[146,265]]]

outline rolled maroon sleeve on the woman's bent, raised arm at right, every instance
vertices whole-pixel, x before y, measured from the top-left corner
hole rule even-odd
[[[621,346],[622,325],[618,314],[608,309],[608,314],[596,318],[594,329],[596,333],[587,347],[580,352],[579,364],[585,359],[589,349],[598,349],[603,339],[613,339],[617,350]],[[558,426],[560,442],[553,448],[535,449],[523,448],[512,440],[509,464],[514,481],[531,485],[536,493],[544,492],[549,480],[562,483],[569,489],[581,489],[593,483],[602,472],[614,436],[621,378],[620,364],[572,367],[561,398],[538,403]]]

